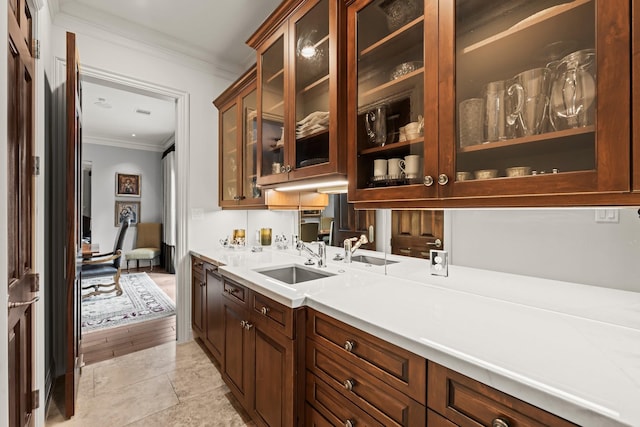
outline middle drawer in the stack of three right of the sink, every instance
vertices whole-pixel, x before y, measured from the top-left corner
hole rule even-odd
[[[313,340],[306,350],[307,369],[384,425],[424,425],[424,405]]]

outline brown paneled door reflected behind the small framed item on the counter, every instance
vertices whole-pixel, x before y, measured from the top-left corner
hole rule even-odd
[[[444,213],[441,210],[391,211],[391,253],[429,258],[429,250],[442,249]]]

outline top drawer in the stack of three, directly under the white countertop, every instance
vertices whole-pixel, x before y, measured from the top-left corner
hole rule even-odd
[[[312,309],[307,336],[426,405],[424,358]]]

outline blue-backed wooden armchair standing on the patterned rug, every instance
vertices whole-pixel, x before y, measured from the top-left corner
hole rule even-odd
[[[93,292],[82,295],[82,298],[89,298],[94,295],[108,294],[115,292],[116,296],[122,295],[122,288],[120,287],[120,261],[122,258],[122,245],[124,243],[124,236],[129,229],[129,219],[126,219],[120,223],[118,234],[116,235],[116,241],[113,245],[113,251],[102,254],[91,255],[90,258],[85,258],[82,261],[82,268],[80,269],[81,279],[90,279],[93,277],[105,277],[112,276],[112,280],[106,283],[98,283],[95,285],[84,286],[83,290],[92,289]],[[106,289],[105,289],[106,288]]]

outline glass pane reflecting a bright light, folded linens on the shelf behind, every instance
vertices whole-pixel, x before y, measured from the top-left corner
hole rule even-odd
[[[329,0],[295,22],[295,169],[329,162]]]

